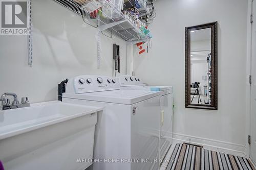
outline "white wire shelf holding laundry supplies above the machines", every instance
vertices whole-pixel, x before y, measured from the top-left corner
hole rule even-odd
[[[133,20],[121,12],[122,4],[115,4],[115,0],[55,1],[82,16],[89,25],[98,27],[100,31],[108,31],[129,44],[150,39]]]

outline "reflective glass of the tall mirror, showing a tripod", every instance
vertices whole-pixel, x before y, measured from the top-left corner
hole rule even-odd
[[[190,31],[190,102],[211,105],[211,28]]]

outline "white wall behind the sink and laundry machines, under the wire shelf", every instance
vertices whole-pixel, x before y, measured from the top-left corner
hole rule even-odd
[[[121,45],[121,72],[125,73],[124,41],[102,38],[97,69],[97,29],[53,0],[32,1],[33,67],[27,65],[27,37],[0,36],[0,93],[15,92],[30,102],[57,99],[57,84],[77,75],[113,76],[113,43]]]

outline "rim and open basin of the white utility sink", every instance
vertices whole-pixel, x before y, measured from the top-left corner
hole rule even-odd
[[[100,110],[102,108],[54,101],[0,111],[0,140]]]

